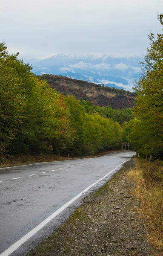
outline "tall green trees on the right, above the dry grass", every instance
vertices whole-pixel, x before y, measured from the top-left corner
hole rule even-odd
[[[163,15],[158,15],[163,26]],[[137,82],[137,105],[134,120],[123,131],[123,141],[129,141],[139,155],[153,162],[163,159],[163,34],[149,35],[150,47],[144,56],[143,76]]]

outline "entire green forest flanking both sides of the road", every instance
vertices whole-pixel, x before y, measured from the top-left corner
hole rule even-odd
[[[158,19],[163,26],[163,15],[158,15]],[[19,53],[9,54],[6,44],[1,42],[0,156],[47,152],[82,156],[121,149],[127,142],[146,160],[162,159],[163,34],[155,38],[150,33],[149,40],[135,92],[115,89],[120,95],[137,95],[133,109],[112,109],[110,105],[94,104],[88,97],[76,99],[71,93],[58,92],[51,85],[55,84],[55,76],[34,75]],[[69,88],[73,79],[68,80]],[[85,81],[79,83],[86,87]],[[114,88],[102,90],[111,92]]]

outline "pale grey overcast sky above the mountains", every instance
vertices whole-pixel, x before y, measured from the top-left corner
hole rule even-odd
[[[0,41],[21,56],[142,55],[163,0],[1,0]]]

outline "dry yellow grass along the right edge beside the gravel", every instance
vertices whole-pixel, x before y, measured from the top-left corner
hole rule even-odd
[[[141,202],[139,212],[148,219],[149,239],[163,250],[163,161],[136,159],[127,175],[137,184],[134,194]]]

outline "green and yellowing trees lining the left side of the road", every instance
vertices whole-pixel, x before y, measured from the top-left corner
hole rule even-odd
[[[100,108],[60,94],[0,43],[1,157],[45,152],[82,156],[119,149],[120,124],[131,118],[131,109]]]

